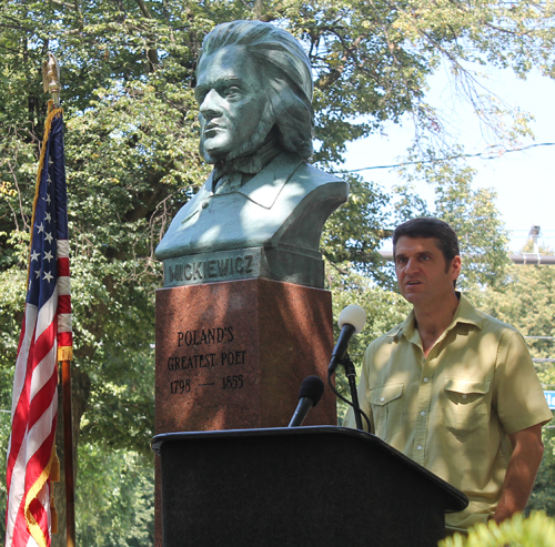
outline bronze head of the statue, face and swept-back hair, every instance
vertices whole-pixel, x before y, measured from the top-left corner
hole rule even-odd
[[[202,43],[196,82],[209,163],[251,155],[271,132],[283,150],[312,155],[311,67],[289,32],[260,21],[219,24]]]

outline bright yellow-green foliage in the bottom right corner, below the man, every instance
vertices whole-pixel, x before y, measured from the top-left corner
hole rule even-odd
[[[468,537],[455,534],[438,543],[438,547],[551,547],[555,545],[555,520],[544,513],[533,513],[528,518],[516,514],[496,525],[491,520],[471,528]]]

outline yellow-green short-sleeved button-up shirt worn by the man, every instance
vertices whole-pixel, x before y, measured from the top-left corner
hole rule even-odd
[[[370,344],[359,398],[375,435],[468,496],[446,515],[451,531],[495,513],[507,434],[553,417],[523,337],[464,296],[427,357],[414,312]],[[355,427],[352,412],[344,425]]]

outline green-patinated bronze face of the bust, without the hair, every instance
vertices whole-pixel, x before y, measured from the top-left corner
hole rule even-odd
[[[201,143],[209,163],[253,153],[272,129],[266,98],[252,55],[229,45],[203,57],[195,89]]]

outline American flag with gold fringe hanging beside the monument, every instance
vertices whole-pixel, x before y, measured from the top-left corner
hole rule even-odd
[[[62,110],[49,104],[31,227],[8,446],[7,547],[48,547],[58,361],[72,357]]]

